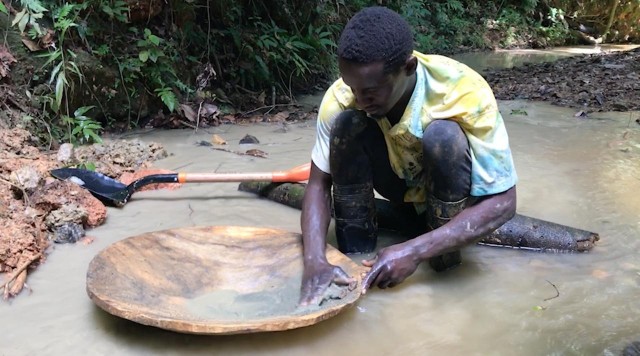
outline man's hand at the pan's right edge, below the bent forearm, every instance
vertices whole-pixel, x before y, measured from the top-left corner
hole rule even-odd
[[[371,267],[362,280],[362,294],[365,294],[374,285],[382,289],[395,287],[415,272],[420,261],[410,247],[398,244],[383,248],[376,257],[362,264]]]

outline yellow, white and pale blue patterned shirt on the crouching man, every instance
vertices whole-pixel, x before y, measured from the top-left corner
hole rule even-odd
[[[418,59],[416,86],[402,118],[394,126],[387,118],[375,119],[384,133],[391,167],[407,183],[405,201],[417,203],[418,211],[422,210],[426,191],[421,140],[433,120],[453,120],[465,132],[471,147],[471,195],[496,194],[513,187],[517,175],[509,138],[487,82],[451,58],[419,52],[413,55]],[[325,173],[331,173],[333,122],[342,111],[356,108],[351,88],[342,79],[335,81],[322,99],[311,158]]]

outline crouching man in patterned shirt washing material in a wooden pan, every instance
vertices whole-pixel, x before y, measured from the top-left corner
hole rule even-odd
[[[338,57],[341,78],[320,105],[302,206],[302,305],[320,303],[332,282],[353,281],[325,257],[332,197],[344,253],[375,249],[374,189],[422,223],[418,236],[363,261],[364,292],[397,285],[424,261],[436,271],[458,265],[461,247],[515,214],[507,132],[478,73],[414,51],[409,25],[383,7],[347,23]]]

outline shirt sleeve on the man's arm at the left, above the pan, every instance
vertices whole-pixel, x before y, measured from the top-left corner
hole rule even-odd
[[[327,90],[318,109],[318,122],[316,124],[316,142],[311,151],[311,160],[323,172],[331,174],[329,166],[329,142],[331,128],[335,118],[344,109],[333,95],[333,88]]]

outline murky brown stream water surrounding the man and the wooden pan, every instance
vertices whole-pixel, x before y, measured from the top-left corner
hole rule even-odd
[[[640,113],[593,114],[501,102],[520,177],[522,214],[599,232],[590,253],[541,254],[472,246],[463,265],[420,267],[404,284],[372,290],[317,325],[237,336],[182,335],[113,317],[85,292],[93,256],[143,232],[192,225],[300,231],[299,211],[237,191],[235,183],[136,193],[95,242],[56,245],[29,277],[31,295],[0,303],[1,355],[617,355],[640,340]],[[511,115],[524,110],[527,116]],[[633,116],[630,116],[633,115]],[[250,133],[268,159],[196,147],[211,133]],[[189,172],[287,169],[309,160],[313,123],[151,132],[174,155],[162,168]],[[240,149],[231,144],[230,149]],[[556,292],[560,296],[553,297]]]

